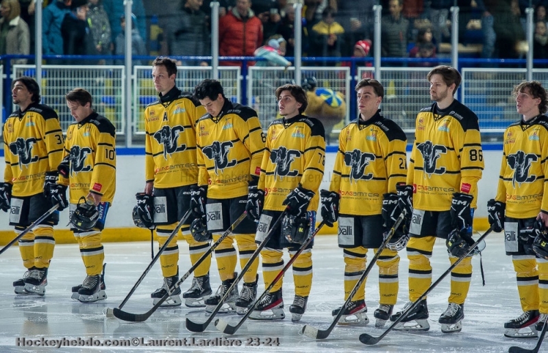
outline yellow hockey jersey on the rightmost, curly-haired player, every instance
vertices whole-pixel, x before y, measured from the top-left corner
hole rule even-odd
[[[518,121],[504,132],[497,201],[506,203],[506,216],[536,217],[548,212],[548,117],[527,124]]]

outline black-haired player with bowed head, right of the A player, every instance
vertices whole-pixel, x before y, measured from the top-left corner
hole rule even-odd
[[[195,95],[208,114],[196,123],[199,178],[198,186],[192,189],[191,207],[196,220],[190,230],[192,232],[195,226],[206,228],[207,216],[207,229],[217,241],[245,212],[248,193],[257,190],[265,137],[257,112],[229,101],[219,81],[204,80],[196,87]],[[243,268],[257,249],[256,228],[253,219],[247,217],[232,232],[235,236],[227,236],[216,247],[222,284],[215,295],[206,300],[206,311],[214,310],[236,278],[234,238]],[[238,286],[234,286],[225,300],[226,311],[237,309],[238,313],[245,314],[257,295],[258,267],[256,258],[243,276],[240,296]]]

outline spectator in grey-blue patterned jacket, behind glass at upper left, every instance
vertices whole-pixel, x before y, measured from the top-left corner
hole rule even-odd
[[[112,52],[110,23],[100,0],[89,0],[88,25],[95,50],[99,55],[110,55]],[[104,63],[101,60],[100,63]]]

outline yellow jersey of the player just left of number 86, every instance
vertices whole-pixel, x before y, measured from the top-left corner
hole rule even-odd
[[[380,215],[384,193],[406,182],[406,134],[379,114],[351,121],[338,136],[338,151],[329,190],[340,193],[343,215]]]

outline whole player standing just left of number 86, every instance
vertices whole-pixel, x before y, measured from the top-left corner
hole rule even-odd
[[[383,233],[393,226],[393,218],[401,212],[395,210],[396,185],[405,185],[407,175],[406,134],[394,121],[380,114],[383,86],[366,78],[358,82],[356,92],[360,114],[340,132],[329,191],[321,191],[323,219],[329,223],[338,219],[338,246],[343,248],[345,258],[345,300],[364,273],[367,249],[377,252]],[[385,212],[381,212],[383,209]],[[384,221],[382,213],[388,216]],[[403,224],[401,228],[405,228]],[[407,239],[408,235],[399,229],[390,247],[385,247],[377,260],[380,292],[379,308],[374,313],[377,327],[384,326],[396,304],[397,249],[403,249]],[[365,282],[344,308],[340,324],[369,322],[364,298]],[[333,311],[333,316],[340,310],[342,306]]]

